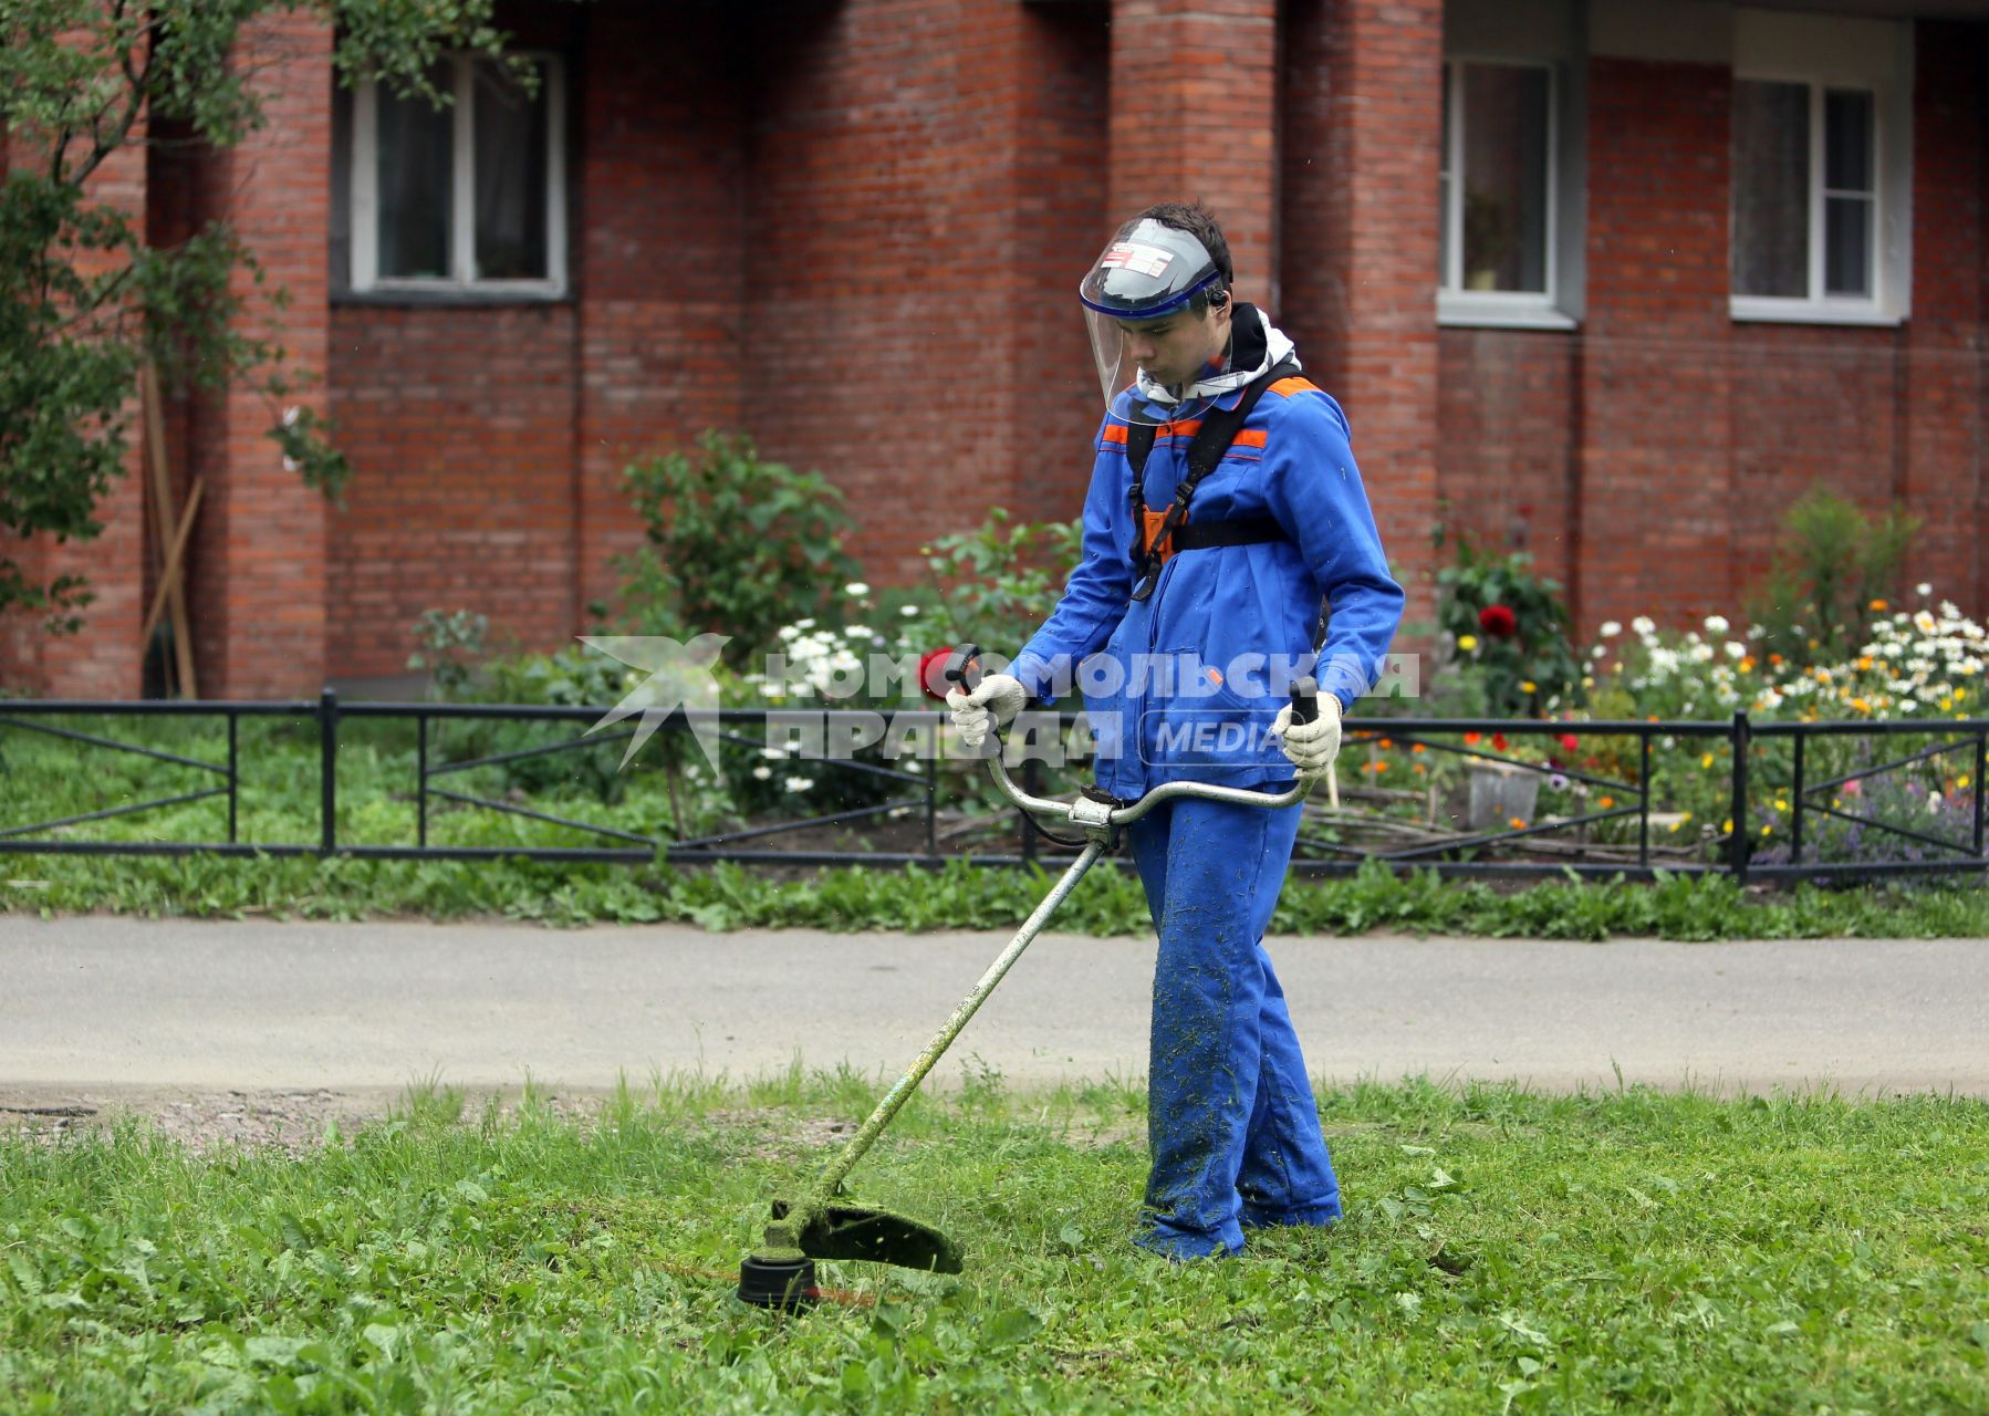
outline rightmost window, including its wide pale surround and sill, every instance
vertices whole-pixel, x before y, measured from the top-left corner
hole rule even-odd
[[[1736,320],[1898,324],[1911,290],[1911,28],[1736,10]]]

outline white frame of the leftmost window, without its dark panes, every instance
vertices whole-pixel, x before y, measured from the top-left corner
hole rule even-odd
[[[352,290],[356,294],[563,296],[567,292],[567,70],[559,54],[527,50],[517,58],[541,66],[545,95],[545,266],[543,280],[485,280],[475,272],[475,62],[487,56],[444,56],[452,74],[450,153],[450,274],[380,276],[380,88],[364,80],[352,95]]]

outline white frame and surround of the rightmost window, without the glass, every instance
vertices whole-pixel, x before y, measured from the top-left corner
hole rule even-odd
[[[1911,26],[1852,16],[1738,10],[1732,76],[1734,82],[1802,84],[1810,89],[1810,292],[1730,292],[1730,318],[1780,324],[1905,322],[1913,290]],[[1872,95],[1872,294],[1824,292],[1824,95],[1832,89]],[[1732,241],[1728,203],[1728,280]]]

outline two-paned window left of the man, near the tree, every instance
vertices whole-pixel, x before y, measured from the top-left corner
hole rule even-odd
[[[565,76],[553,56],[527,64],[533,84],[507,62],[442,60],[448,107],[376,84],[340,105],[334,278],[344,266],[358,292],[565,292]]]

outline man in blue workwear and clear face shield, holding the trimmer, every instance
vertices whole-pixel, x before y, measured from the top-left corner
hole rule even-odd
[[[1233,300],[1233,282],[1213,217],[1172,203],[1126,223],[1084,278],[1106,398],[1084,553],[1010,672],[949,694],[969,744],[1076,676],[1098,786],[1118,797],[1177,780],[1275,794],[1331,766],[1341,712],[1374,682],[1402,589],[1347,418],[1299,376],[1291,340]],[[1321,603],[1329,630],[1315,656]],[[1293,722],[1289,682],[1307,666],[1321,712]],[[1172,1259],[1341,1215],[1263,949],[1297,831],[1299,807],[1185,799],[1128,831],[1160,935],[1154,1167],[1136,1243]]]

